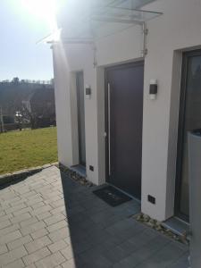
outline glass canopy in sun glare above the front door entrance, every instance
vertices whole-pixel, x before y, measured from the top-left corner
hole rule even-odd
[[[63,19],[65,23],[62,23],[62,37],[93,40],[142,24],[162,14],[141,9],[151,2],[153,0],[89,0],[81,6],[79,4],[74,13],[66,14]]]

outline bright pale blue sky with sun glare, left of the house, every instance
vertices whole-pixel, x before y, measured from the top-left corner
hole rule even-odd
[[[38,4],[31,5],[31,1]],[[47,2],[0,0],[0,80],[13,77],[50,80],[54,77],[50,45],[37,45],[53,28],[46,16],[49,14]]]

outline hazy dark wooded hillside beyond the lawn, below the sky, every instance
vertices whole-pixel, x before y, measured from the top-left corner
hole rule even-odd
[[[0,82],[0,107],[4,116],[14,117],[23,104],[29,104],[31,113],[38,118],[55,121],[54,86],[27,82]]]

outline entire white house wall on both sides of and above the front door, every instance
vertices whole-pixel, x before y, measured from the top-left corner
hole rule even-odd
[[[146,8],[163,15],[147,23],[141,202],[144,213],[163,221],[172,216],[174,208],[181,51],[201,45],[201,1],[158,0]],[[85,85],[92,88],[91,98],[85,100],[88,180],[100,184],[105,182],[104,67],[140,59],[141,29],[135,26],[98,40],[97,68],[93,66],[90,45],[65,46],[68,66],[57,47],[54,46],[54,74],[59,159],[66,165],[78,161],[77,130],[73,127],[76,112],[72,113],[76,101],[70,97],[70,81],[73,71],[83,70]],[[151,79],[158,80],[155,101],[148,96]],[[88,170],[89,164],[94,166],[94,172]],[[155,205],[147,202],[148,194],[155,197]]]

